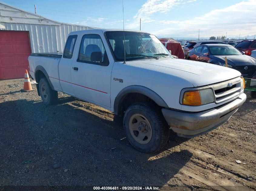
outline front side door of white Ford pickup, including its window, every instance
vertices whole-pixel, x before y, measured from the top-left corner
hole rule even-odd
[[[72,87],[76,97],[111,107],[111,70],[100,34],[85,34],[78,42],[77,59],[71,64]]]

